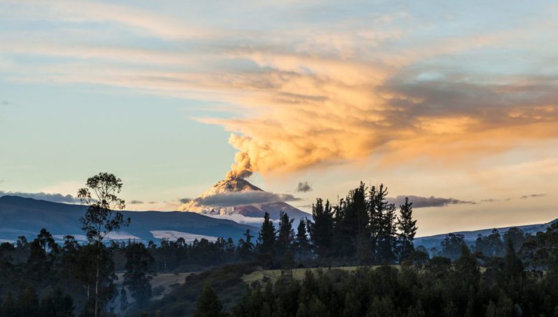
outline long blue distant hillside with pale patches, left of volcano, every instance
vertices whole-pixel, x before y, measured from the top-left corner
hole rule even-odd
[[[19,196],[0,197],[0,242],[15,241],[20,235],[34,238],[40,229],[47,229],[57,239],[63,235],[74,235],[84,239],[80,217],[86,206],[66,203],[52,203]],[[254,226],[238,224],[228,219],[216,219],[195,212],[123,211],[132,223],[111,238],[135,238],[144,241],[158,241],[167,237],[171,240],[183,237],[187,241],[194,238],[233,238],[237,242],[246,229],[257,232]]]

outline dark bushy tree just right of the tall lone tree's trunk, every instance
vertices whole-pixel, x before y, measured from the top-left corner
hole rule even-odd
[[[143,243],[132,243],[126,247],[123,284],[128,287],[138,307],[144,307],[151,298],[149,268],[153,262],[153,256]]]

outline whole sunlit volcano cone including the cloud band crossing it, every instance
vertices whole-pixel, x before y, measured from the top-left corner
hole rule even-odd
[[[264,213],[269,212],[271,219],[279,219],[281,211],[292,218],[310,216],[285,203],[288,199],[296,200],[292,195],[265,192],[243,178],[232,178],[218,181],[196,199],[182,205],[179,210],[202,215],[243,215],[257,218],[264,217]]]

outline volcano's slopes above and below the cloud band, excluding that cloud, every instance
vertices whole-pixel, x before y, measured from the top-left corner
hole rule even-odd
[[[255,194],[254,194],[255,193]],[[227,203],[225,206],[218,206],[216,204],[204,205],[203,201],[216,196],[258,196],[266,192],[259,187],[256,187],[243,178],[232,178],[218,181],[209,190],[200,194],[196,199],[185,203],[179,208],[180,211],[197,212],[202,215],[243,215],[244,217],[264,217],[265,212],[269,213],[271,219],[279,219],[280,212],[285,212],[289,217],[301,219],[310,217],[308,212],[303,212],[298,208],[285,203],[285,201],[273,201],[266,203],[239,203],[238,205],[231,206]]]

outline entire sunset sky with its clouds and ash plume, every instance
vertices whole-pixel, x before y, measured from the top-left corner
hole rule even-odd
[[[423,234],[545,222],[557,17],[554,1],[2,1],[0,190],[75,194],[111,171],[130,209],[173,210],[241,153],[233,171],[300,206],[360,180],[476,202],[418,209]]]

